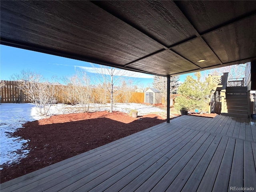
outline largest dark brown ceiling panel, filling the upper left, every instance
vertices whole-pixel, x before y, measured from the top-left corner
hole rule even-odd
[[[119,65],[163,48],[88,1],[3,1],[1,38]]]

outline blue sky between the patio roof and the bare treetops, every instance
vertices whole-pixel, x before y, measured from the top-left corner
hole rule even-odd
[[[12,74],[19,74],[23,69],[39,72],[48,79],[52,76],[71,76],[75,74],[75,70],[86,70],[86,74],[91,78],[94,76],[92,66],[88,62],[4,45],[0,45],[0,64],[1,80],[11,80]],[[180,81],[183,82],[187,75],[180,76]],[[146,86],[153,82],[153,76],[149,74],[129,72],[129,76],[138,77],[132,78],[137,84]]]

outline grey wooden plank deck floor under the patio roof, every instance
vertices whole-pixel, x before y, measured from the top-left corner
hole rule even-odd
[[[181,116],[3,183],[1,192],[222,192],[230,187],[256,191],[256,122],[218,115]]]

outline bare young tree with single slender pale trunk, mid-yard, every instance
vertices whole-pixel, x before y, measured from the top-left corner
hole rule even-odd
[[[97,68],[92,64],[97,73],[97,80],[102,89],[106,90],[110,96],[110,112],[113,112],[114,95],[122,86],[122,81],[127,79],[127,71],[116,69],[114,67],[100,66]]]

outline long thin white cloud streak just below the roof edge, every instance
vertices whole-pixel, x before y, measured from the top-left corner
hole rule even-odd
[[[75,66],[79,67],[83,70],[86,70],[86,72],[89,73],[94,73],[94,74],[98,74],[98,71],[101,71],[100,68],[93,68],[93,67],[85,67],[85,66]],[[134,78],[145,78],[145,79],[152,79],[153,76],[150,74],[144,74],[144,73],[139,73],[139,72],[134,72],[134,71],[128,71],[126,70],[126,72],[123,72],[124,70],[122,69],[115,69],[115,73],[114,75],[116,76],[126,76],[126,77],[134,77]],[[108,74],[108,73],[106,73]]]

